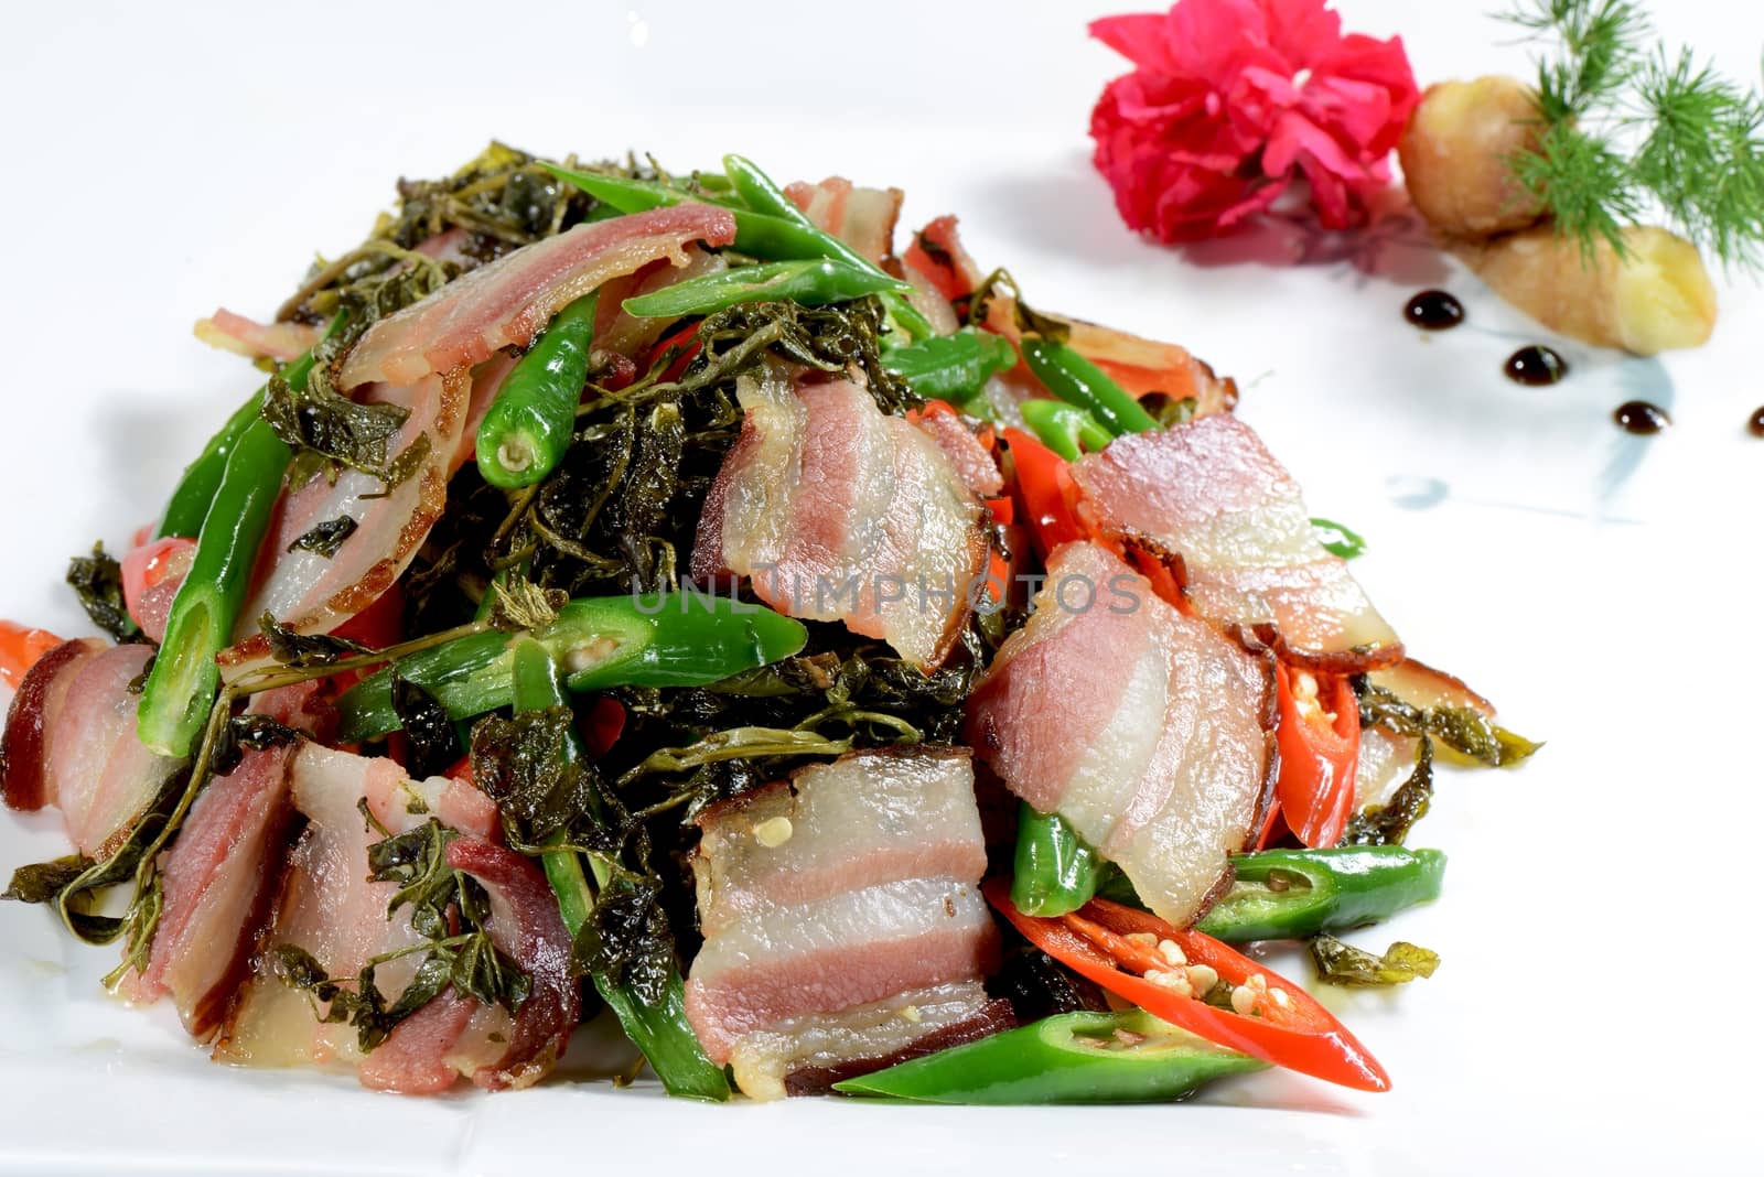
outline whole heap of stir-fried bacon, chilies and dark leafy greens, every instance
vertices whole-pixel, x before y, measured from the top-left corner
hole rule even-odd
[[[898,190],[492,146],[210,342],[268,381],[7,624],[16,870],[213,1057],[439,1092],[607,1010],[667,1091],[1388,1078],[1231,948],[1432,899],[1432,763],[1531,745],[1180,347]]]

